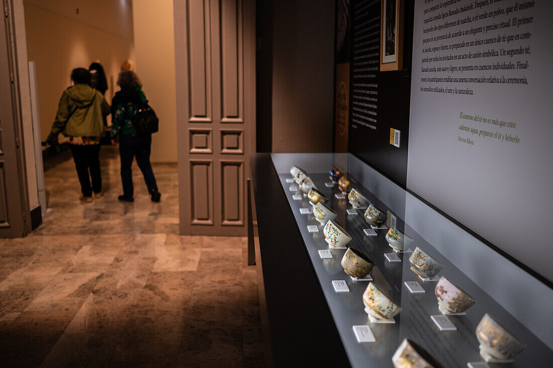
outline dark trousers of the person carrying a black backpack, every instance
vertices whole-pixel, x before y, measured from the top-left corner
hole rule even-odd
[[[119,138],[119,156],[121,157],[123,195],[129,197],[134,195],[132,172],[134,157],[137,158],[138,167],[144,175],[144,182],[146,182],[146,186],[148,187],[148,193],[158,190],[152,164],[150,164],[151,146],[152,136],[142,136],[138,133],[121,134],[121,138]]]

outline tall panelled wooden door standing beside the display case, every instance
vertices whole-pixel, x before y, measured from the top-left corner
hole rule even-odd
[[[253,0],[175,0],[181,234],[241,235],[255,147]]]

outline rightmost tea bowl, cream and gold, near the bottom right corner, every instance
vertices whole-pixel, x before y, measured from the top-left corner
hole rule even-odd
[[[476,338],[480,342],[480,355],[486,362],[512,360],[526,348],[489,314],[484,315],[476,328]]]

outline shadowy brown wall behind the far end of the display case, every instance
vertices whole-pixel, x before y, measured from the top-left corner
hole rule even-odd
[[[273,152],[331,152],[333,0],[274,2]]]

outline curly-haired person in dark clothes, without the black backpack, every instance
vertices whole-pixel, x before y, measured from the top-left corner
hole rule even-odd
[[[152,164],[150,164],[152,134],[140,134],[135,127],[140,105],[148,102],[142,91],[142,83],[134,71],[124,70],[119,73],[117,84],[121,87],[121,91],[118,91],[112,99],[113,126],[109,137],[114,146],[117,145],[117,138],[119,138],[121,183],[123,184],[123,195],[119,195],[119,200],[134,201],[132,164],[136,157],[152,201],[159,202],[161,194],[158,191]]]

